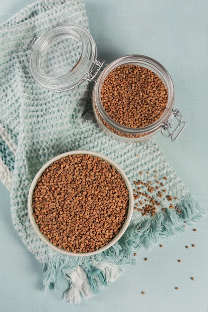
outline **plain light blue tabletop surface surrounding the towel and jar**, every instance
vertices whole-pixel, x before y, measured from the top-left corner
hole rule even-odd
[[[29,3],[32,0],[0,0],[0,22]],[[171,74],[175,108],[183,113],[187,127],[175,143],[161,134],[155,139],[208,211],[208,1],[85,3],[100,59],[110,62],[126,54],[144,54],[157,59]],[[62,300],[66,288],[63,279],[59,293],[42,294],[41,265],[13,229],[9,192],[0,182],[2,312],[208,312],[208,218],[188,227],[163,248],[156,246],[151,252],[139,252],[137,266],[126,266],[125,274],[115,283],[80,305]],[[142,291],[146,295],[141,295]]]

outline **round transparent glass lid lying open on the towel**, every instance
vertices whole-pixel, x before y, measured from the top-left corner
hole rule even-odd
[[[52,91],[67,91],[80,85],[97,59],[90,33],[72,24],[59,25],[35,36],[27,50],[31,52],[33,78]]]

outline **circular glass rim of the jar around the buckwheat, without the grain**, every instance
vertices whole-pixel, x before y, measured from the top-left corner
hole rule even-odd
[[[101,88],[105,78],[114,68],[120,65],[128,65],[128,64],[140,65],[149,68],[161,78],[161,80],[168,89],[168,103],[162,116],[151,125],[141,128],[126,127],[117,123],[106,113],[102,105]],[[94,97],[95,103],[97,104],[98,112],[106,123],[108,123],[111,127],[113,127],[115,130],[119,132],[136,135],[154,131],[158,129],[164,121],[168,119],[174,104],[174,85],[169,72],[158,61],[145,55],[131,54],[119,57],[116,60],[112,61],[110,64],[108,64],[108,66],[102,71],[97,80],[94,90]]]

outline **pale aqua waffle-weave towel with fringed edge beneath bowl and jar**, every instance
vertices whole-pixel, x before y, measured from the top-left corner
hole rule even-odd
[[[34,81],[28,44],[34,35],[64,23],[88,28],[82,0],[40,0],[0,26],[0,179],[10,191],[13,225],[42,264],[45,293],[59,289],[63,274],[69,281],[64,299],[80,303],[115,281],[125,264],[134,264],[133,254],[139,248],[151,249],[174,237],[185,230],[184,221],[196,222],[204,212],[153,139],[121,143],[97,127],[91,107],[92,84],[85,82],[72,91],[55,93]],[[91,257],[67,256],[47,247],[32,229],[27,213],[27,195],[37,171],[52,157],[73,150],[110,157],[125,171],[133,189],[138,187],[135,181],[141,180],[135,207],[140,207],[139,200],[147,200],[145,184],[149,181],[154,187],[151,198],[160,202],[154,217],[135,209],[124,236],[107,251]],[[173,197],[174,209],[165,195],[158,198],[159,183]]]

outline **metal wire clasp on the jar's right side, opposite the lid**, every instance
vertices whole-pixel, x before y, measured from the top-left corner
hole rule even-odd
[[[171,132],[170,128],[173,127],[173,119],[174,117],[177,120],[176,128]],[[171,140],[174,142],[178,139],[184,128],[186,127],[186,123],[183,121],[183,116],[180,113],[179,110],[175,110],[171,112],[171,115],[169,116],[166,123],[162,124],[162,135],[166,138],[171,138]],[[165,133],[167,131],[167,133]]]

